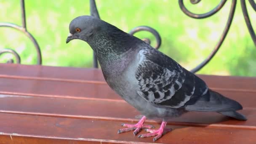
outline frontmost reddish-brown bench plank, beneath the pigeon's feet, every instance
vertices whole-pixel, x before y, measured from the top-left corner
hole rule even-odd
[[[132,132],[117,134],[121,122],[103,120],[85,120],[64,117],[43,117],[31,115],[0,114],[0,128],[2,135],[0,142],[11,142],[21,136],[33,137],[36,141],[45,142],[42,138],[68,139],[71,142],[81,140],[119,142],[139,144],[139,142],[152,143],[152,138],[137,138]],[[10,128],[11,127],[11,128]],[[256,141],[255,130],[235,128],[200,128],[171,126],[172,132],[165,134],[155,143],[165,144],[216,144],[237,143],[253,144]],[[157,127],[158,128],[158,127]],[[145,132],[140,132],[145,133]],[[12,138],[11,138],[11,136]],[[24,139],[25,141],[25,139]]]

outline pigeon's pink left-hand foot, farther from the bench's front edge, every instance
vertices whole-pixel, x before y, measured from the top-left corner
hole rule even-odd
[[[122,129],[118,130],[117,133],[123,133],[125,131],[135,130],[135,131],[133,131],[133,134],[136,135],[137,133],[139,133],[141,131],[142,128],[154,128],[153,125],[144,125],[145,120],[147,120],[147,117],[143,116],[141,118],[141,120],[139,120],[139,122],[136,123],[135,125],[123,123],[122,126],[125,126],[128,128],[122,128]]]

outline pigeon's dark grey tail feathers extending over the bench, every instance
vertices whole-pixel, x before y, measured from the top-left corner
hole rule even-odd
[[[210,89],[194,104],[187,105],[185,109],[188,111],[219,112],[237,120],[246,120],[244,115],[236,112],[237,110],[243,109],[241,104]]]

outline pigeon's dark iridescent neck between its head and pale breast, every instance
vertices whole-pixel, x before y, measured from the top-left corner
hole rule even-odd
[[[105,31],[106,32],[106,31]],[[96,34],[88,41],[101,65],[104,77],[120,75],[133,59],[138,39],[123,31]]]

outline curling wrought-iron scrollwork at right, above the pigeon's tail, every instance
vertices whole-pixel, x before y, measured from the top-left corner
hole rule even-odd
[[[190,3],[192,4],[197,4],[199,3],[201,0],[190,0]],[[221,2],[215,7],[213,8],[213,10],[209,11],[208,13],[203,13],[203,14],[196,14],[196,13],[192,13],[190,12],[183,3],[183,0],[179,0],[179,6],[181,8],[181,10],[189,17],[192,17],[194,19],[203,19],[203,18],[207,18],[209,16],[212,16],[213,14],[217,13],[222,7],[223,5],[227,2],[227,0],[221,0]],[[240,0],[241,2],[241,6],[242,6],[242,11],[243,11],[243,15],[245,18],[245,22],[246,25],[248,27],[248,30],[250,32],[251,38],[254,42],[254,44],[256,45],[256,36],[255,33],[253,31],[253,28],[251,26],[251,21],[249,19],[248,13],[247,13],[247,8],[245,5],[245,0]],[[232,23],[232,19],[234,17],[234,13],[235,13],[235,7],[236,7],[236,3],[237,0],[232,0],[231,3],[231,7],[230,7],[230,11],[229,11],[229,17],[226,23],[226,26],[224,28],[224,31],[219,39],[219,42],[217,43],[217,45],[213,48],[213,51],[211,51],[211,53],[207,56],[207,58],[201,62],[197,67],[195,67],[194,69],[191,70],[191,72],[197,72],[199,71],[201,68],[203,68],[206,64],[208,64],[208,62],[213,58],[213,56],[217,53],[217,51],[219,50],[220,46],[222,45],[225,37],[227,36],[227,32],[229,31],[230,25]],[[249,0],[249,3],[251,4],[251,6],[253,7],[254,11],[256,11],[256,3],[253,0]]]

